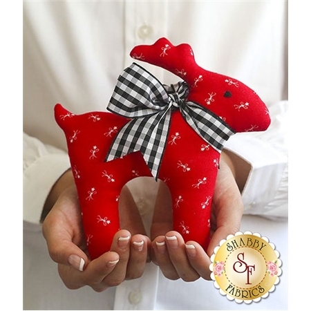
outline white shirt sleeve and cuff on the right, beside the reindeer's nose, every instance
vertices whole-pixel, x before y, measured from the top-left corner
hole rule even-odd
[[[270,107],[267,131],[237,133],[225,149],[251,165],[242,192],[245,214],[286,220],[288,218],[288,102]]]

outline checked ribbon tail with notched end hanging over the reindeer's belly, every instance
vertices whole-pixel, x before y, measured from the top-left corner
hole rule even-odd
[[[155,115],[131,120],[115,136],[105,162],[140,151],[157,180],[170,122],[171,111],[161,111]]]

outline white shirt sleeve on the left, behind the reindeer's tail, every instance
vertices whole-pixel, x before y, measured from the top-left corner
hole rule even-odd
[[[23,220],[39,224],[46,198],[55,182],[70,168],[65,151],[23,133]]]

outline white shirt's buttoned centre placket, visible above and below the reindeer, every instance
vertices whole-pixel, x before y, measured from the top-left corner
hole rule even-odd
[[[134,46],[153,44],[167,35],[166,1],[124,1],[124,68],[137,62],[162,79],[164,70],[132,59]],[[148,263],[144,274],[135,280],[124,281],[116,287],[114,310],[153,310],[158,290],[159,268]]]

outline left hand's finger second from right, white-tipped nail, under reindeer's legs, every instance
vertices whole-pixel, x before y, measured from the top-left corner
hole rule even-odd
[[[117,286],[124,281],[130,256],[130,241],[131,234],[127,230],[121,229],[115,234],[111,252],[116,252],[119,255],[119,261],[113,271],[102,280],[105,285]]]

